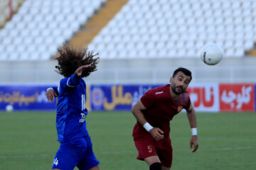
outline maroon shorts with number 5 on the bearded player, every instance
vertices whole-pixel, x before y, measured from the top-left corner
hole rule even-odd
[[[166,135],[163,140],[156,141],[138,124],[135,125],[132,135],[139,152],[137,159],[144,160],[146,157],[158,156],[162,166],[171,167],[173,149],[169,135]]]

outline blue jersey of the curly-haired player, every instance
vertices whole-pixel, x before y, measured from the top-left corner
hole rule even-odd
[[[54,88],[53,88],[54,89]],[[77,144],[79,137],[88,135],[85,118],[86,84],[82,77],[73,74],[61,79],[58,86],[56,128],[58,141]]]

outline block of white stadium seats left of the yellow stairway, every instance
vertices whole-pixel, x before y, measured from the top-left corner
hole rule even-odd
[[[24,1],[0,30],[0,60],[50,60],[105,1]]]

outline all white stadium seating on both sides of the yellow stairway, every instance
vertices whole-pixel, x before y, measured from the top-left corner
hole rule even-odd
[[[0,30],[0,60],[50,60],[63,42],[92,39],[102,59],[199,57],[206,42],[220,45],[225,57],[254,54],[247,52],[256,40],[254,0],[129,0],[95,38],[81,40],[76,33],[106,2],[24,1]]]

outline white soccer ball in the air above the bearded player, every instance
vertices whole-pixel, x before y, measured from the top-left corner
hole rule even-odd
[[[214,43],[208,43],[203,46],[200,57],[204,63],[208,65],[215,65],[222,60],[223,50]]]

